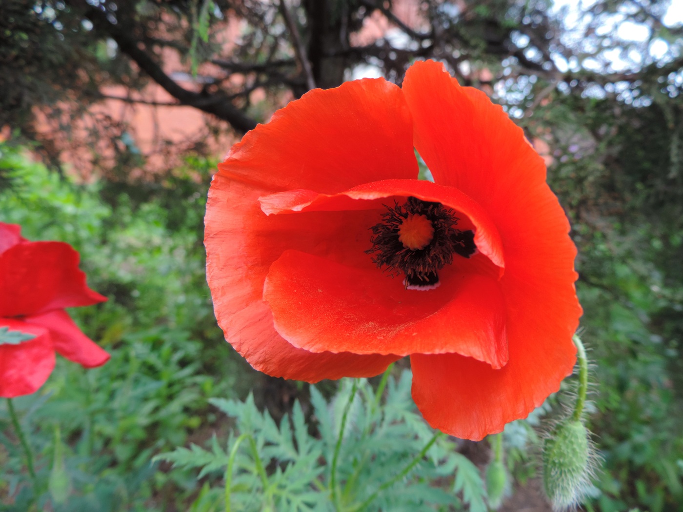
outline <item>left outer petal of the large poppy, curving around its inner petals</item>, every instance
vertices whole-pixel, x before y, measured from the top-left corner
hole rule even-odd
[[[292,188],[333,193],[387,177],[417,177],[417,161],[403,94],[383,79],[309,91],[249,132],[219,165],[206,209],[207,279],[226,339],[253,367],[317,382],[376,375],[398,358],[298,349],[277,334],[262,300],[268,268],[287,249],[344,261],[367,255],[348,243],[348,216],[267,218],[258,197]],[[353,220],[368,219],[358,212]]]

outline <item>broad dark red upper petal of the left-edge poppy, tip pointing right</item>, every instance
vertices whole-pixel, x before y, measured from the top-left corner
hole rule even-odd
[[[79,253],[63,242],[23,242],[0,254],[0,315],[38,315],[107,300],[89,289]]]

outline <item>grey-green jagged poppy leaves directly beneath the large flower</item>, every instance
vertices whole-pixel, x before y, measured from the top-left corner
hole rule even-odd
[[[279,425],[251,395],[212,399],[235,421],[227,448],[212,438],[206,449],[160,458],[198,469],[197,478],[222,479],[236,510],[486,511],[479,468],[423,422],[410,380],[408,371],[389,378],[383,400],[382,386],[373,390],[367,380],[344,382],[330,400],[311,386],[310,421],[297,401]],[[214,492],[219,499],[223,491]]]

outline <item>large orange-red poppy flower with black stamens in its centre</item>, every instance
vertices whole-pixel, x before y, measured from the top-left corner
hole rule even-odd
[[[417,180],[414,148],[434,182]],[[207,275],[225,337],[269,375],[370,376],[410,356],[428,423],[473,440],[572,372],[569,223],[500,106],[433,61],[314,90],[219,165]]]

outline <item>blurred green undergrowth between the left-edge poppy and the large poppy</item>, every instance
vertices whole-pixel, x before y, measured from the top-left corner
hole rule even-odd
[[[17,185],[0,190],[0,218],[22,225],[25,238],[80,251],[89,285],[109,301],[70,314],[111,353],[89,370],[57,358],[38,393],[15,399],[36,452],[36,486],[0,404],[0,510],[184,509],[193,479],[150,459],[191,434],[201,438],[215,420],[208,399],[240,389],[204,281],[203,205],[195,196],[203,185],[177,178],[184,197],[169,194],[166,203],[154,195],[133,203],[107,190],[113,200],[105,203],[106,184],[75,185],[14,148],[0,151],[0,167],[12,169]]]

